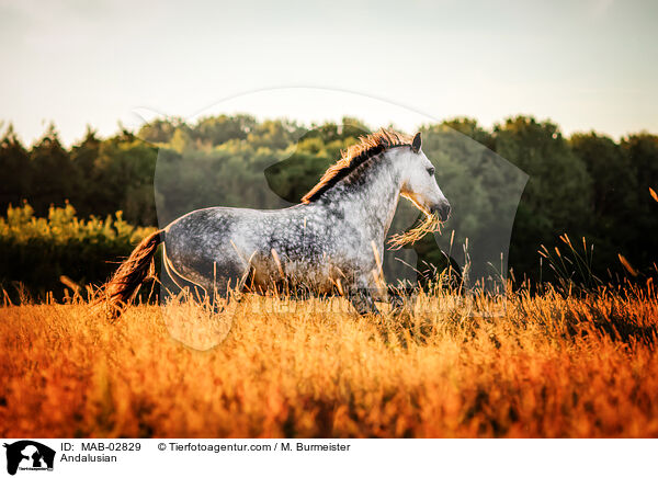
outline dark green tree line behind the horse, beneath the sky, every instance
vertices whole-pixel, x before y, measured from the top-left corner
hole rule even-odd
[[[197,207],[286,205],[298,202],[341,149],[367,130],[354,118],[308,126],[219,115],[195,123],[158,120],[109,138],[88,128],[70,147],[50,125],[27,147],[9,125],[0,139],[0,208],[26,201],[35,216],[47,216],[52,205],[68,202],[79,217],[121,210],[128,224],[156,226],[160,219],[162,226]],[[495,168],[478,164],[498,155],[529,175],[510,240],[508,265],[517,280],[551,280],[537,251],[564,246],[564,234],[578,243],[585,238],[588,250],[594,246],[592,272],[603,281],[629,271],[642,277],[656,269],[658,203],[649,189],[658,189],[658,136],[643,132],[615,141],[590,132],[565,137],[551,121],[529,116],[490,129],[456,118],[421,132],[441,187],[451,203],[468,205],[470,215],[458,220],[476,236],[486,239],[506,201],[503,173],[495,178]],[[479,161],[472,163],[473,171],[481,169],[476,177],[460,169],[473,157]],[[423,262],[441,263],[444,257],[431,242],[416,250]]]

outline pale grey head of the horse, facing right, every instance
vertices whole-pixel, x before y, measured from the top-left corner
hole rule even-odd
[[[441,220],[450,215],[450,203],[441,192],[434,167],[421,150],[420,133],[413,137],[410,148],[400,153],[402,186],[400,194],[426,214],[436,214]]]

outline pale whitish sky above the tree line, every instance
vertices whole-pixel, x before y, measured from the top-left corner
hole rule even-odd
[[[87,125],[137,127],[136,111],[213,105],[416,126],[358,101],[306,102],[303,87],[485,127],[529,114],[566,134],[658,133],[657,21],[658,2],[633,0],[0,0],[0,121],[27,144],[54,122],[69,145]],[[285,102],[252,94],[280,88]]]

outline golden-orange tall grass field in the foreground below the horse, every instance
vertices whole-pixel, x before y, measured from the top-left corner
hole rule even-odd
[[[0,435],[656,437],[651,291],[519,293],[502,317],[436,293],[384,325],[341,298],[247,297],[204,352],[157,306],[115,323],[84,303],[7,306]]]

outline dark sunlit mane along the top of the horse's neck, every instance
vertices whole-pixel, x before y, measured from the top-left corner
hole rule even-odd
[[[368,159],[393,147],[407,145],[411,145],[411,137],[393,129],[381,128],[375,133],[359,137],[359,143],[341,152],[341,158],[325,171],[320,181],[302,197],[302,202],[313,203]]]

